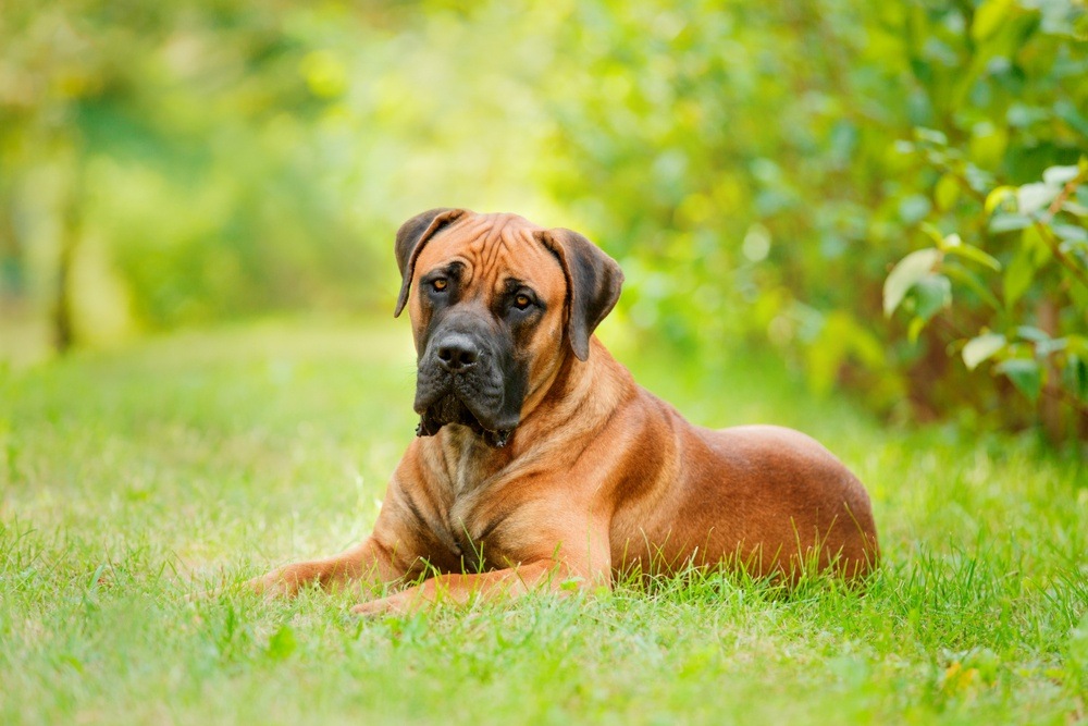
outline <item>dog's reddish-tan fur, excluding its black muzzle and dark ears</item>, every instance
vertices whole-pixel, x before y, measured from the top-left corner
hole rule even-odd
[[[531,283],[547,310],[530,357],[521,421],[505,448],[446,426],[408,446],[370,538],[335,557],[251,582],[294,593],[334,587],[422,585],[356,611],[519,594],[564,582],[610,585],[621,571],[744,566],[795,578],[811,561],[846,578],[878,557],[861,482],[808,436],[776,427],[714,431],[688,423],[639,387],[593,339],[585,361],[566,344],[571,291],[541,227],[512,214],[471,214],[419,253],[413,282],[456,259],[462,300],[486,309],[503,282]],[[421,349],[426,311],[409,305]]]

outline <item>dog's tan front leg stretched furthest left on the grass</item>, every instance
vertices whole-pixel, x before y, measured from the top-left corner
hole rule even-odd
[[[376,585],[393,582],[405,575],[394,566],[391,549],[371,536],[338,555],[285,565],[246,585],[269,596],[292,596],[311,583],[335,590],[351,581]]]

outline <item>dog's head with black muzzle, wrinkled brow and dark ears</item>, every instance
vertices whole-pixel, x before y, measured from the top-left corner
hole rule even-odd
[[[432,209],[397,232],[401,286],[418,355],[420,435],[447,423],[503,446],[527,399],[566,359],[590,355],[623,273],[582,235],[516,214]]]

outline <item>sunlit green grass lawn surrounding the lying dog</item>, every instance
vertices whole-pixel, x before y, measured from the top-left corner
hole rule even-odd
[[[864,594],[710,575],[359,620],[185,595],[363,534],[412,436],[407,327],[185,333],[0,372],[0,723],[1086,719],[1088,477],[1030,439],[888,431],[774,360],[617,343],[703,423],[813,433],[861,476]]]

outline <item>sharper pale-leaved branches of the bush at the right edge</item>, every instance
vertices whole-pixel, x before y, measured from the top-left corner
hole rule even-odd
[[[948,151],[929,155],[943,159]],[[979,244],[1002,247],[1004,264],[960,233],[924,223],[935,246],[907,255],[885,282],[885,313],[907,309],[912,340],[940,316],[967,370],[990,361],[1031,403],[1049,396],[1041,415],[1055,436],[1071,426],[1059,404],[1088,413],[1088,337],[1077,332],[1088,310],[1088,232],[1079,222],[1088,217],[1086,180],[1088,159],[1051,167],[1042,182],[1019,187],[984,194],[968,183],[977,217],[959,222]]]

